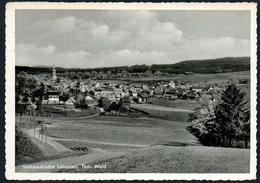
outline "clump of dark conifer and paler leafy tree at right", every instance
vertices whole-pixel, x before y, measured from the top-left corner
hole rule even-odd
[[[231,82],[216,105],[204,104],[190,115],[187,129],[203,145],[248,148],[250,108],[244,96],[245,93]]]

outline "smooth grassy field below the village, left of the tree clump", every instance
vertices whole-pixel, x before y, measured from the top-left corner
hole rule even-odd
[[[154,118],[98,116],[82,120],[55,120],[49,136],[104,145],[147,146],[157,144],[197,145],[196,138],[185,128],[185,122]],[[85,140],[85,141],[84,141]]]

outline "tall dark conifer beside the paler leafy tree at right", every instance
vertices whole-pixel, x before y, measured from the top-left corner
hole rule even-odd
[[[231,147],[233,143],[245,140],[247,136],[244,131],[250,126],[250,108],[244,96],[245,92],[241,92],[236,84],[231,82],[223,91],[221,102],[216,106],[216,124],[219,125],[220,143],[224,147]]]

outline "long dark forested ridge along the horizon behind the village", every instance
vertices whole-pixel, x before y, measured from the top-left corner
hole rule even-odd
[[[38,73],[50,73],[50,67],[38,66],[16,66],[16,73],[25,71],[30,74]],[[199,74],[213,74],[213,73],[225,73],[225,72],[239,72],[250,70],[250,57],[226,57],[218,59],[206,59],[206,60],[188,60],[182,61],[175,64],[153,64],[148,65],[133,65],[133,66],[120,66],[120,67],[101,67],[101,68],[62,68],[56,67],[57,73],[64,72],[83,72],[83,71],[97,71],[111,73],[121,73],[126,71],[128,73],[144,73],[150,70],[152,73],[161,71],[163,73],[180,74],[184,72],[194,72]]]

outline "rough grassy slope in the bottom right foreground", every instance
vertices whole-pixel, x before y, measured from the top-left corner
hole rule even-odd
[[[106,169],[77,172],[108,173],[248,173],[250,151],[217,147],[155,146],[98,162]],[[71,170],[75,172],[76,170]]]

